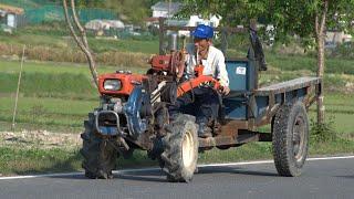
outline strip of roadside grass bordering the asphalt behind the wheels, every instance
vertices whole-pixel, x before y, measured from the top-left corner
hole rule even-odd
[[[317,155],[353,154],[353,140],[311,143],[310,157]],[[235,163],[242,160],[272,159],[270,143],[250,143],[228,150],[211,149],[199,154],[198,164]],[[0,147],[0,174],[2,176],[83,171],[77,149]],[[117,169],[158,167],[157,160],[147,158],[145,151],[136,150],[129,159],[119,157]]]

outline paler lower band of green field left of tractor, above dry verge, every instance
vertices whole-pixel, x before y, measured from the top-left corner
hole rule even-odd
[[[9,130],[12,123],[14,98],[0,97],[0,121],[2,130]],[[98,98],[61,100],[43,97],[20,97],[17,112],[17,129],[49,129],[63,133],[79,133],[87,113],[98,106]],[[27,127],[27,125],[29,125]],[[0,128],[0,129],[1,129]]]

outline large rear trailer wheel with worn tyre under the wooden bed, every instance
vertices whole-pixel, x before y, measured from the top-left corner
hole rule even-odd
[[[309,118],[302,102],[280,107],[272,126],[272,145],[278,174],[300,176],[309,151]]]

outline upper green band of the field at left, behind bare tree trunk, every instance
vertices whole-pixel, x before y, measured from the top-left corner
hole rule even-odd
[[[98,73],[112,73],[126,67],[100,66]],[[128,69],[143,73],[146,69]],[[0,61],[0,93],[15,93],[20,62]],[[24,62],[20,93],[23,96],[97,98],[98,93],[92,83],[87,65],[49,62]]]

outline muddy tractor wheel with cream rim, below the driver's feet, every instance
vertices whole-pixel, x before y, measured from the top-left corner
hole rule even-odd
[[[166,128],[160,166],[170,182],[189,182],[197,169],[198,136],[195,117],[180,114]]]

